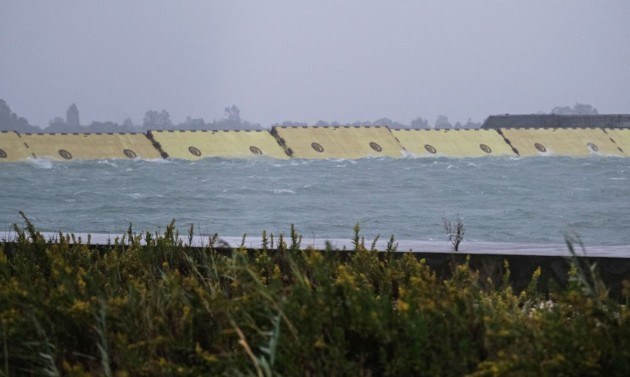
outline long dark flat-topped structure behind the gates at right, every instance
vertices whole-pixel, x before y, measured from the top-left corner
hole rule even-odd
[[[630,128],[630,114],[490,115],[481,128]]]

